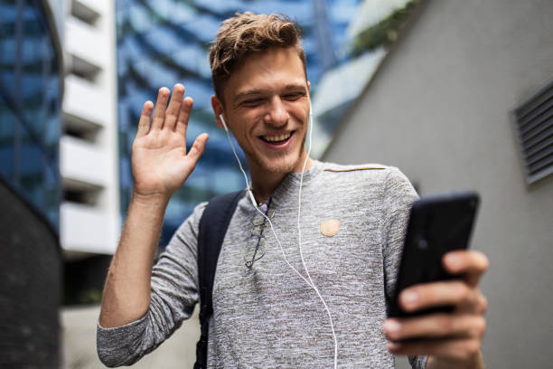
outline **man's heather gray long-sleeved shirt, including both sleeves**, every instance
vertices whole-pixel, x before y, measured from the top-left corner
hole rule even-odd
[[[273,224],[287,260],[305,276],[298,250],[299,174],[272,197]],[[314,284],[333,316],[341,368],[390,368],[382,322],[395,282],[410,204],[417,194],[397,168],[315,162],[302,187],[302,250]],[[145,317],[127,326],[98,326],[104,364],[132,364],[191,316],[198,301],[198,224],[205,203],[174,234],[152,275]],[[284,260],[268,224],[267,252],[248,269],[244,253],[258,241],[257,211],[242,197],[223,242],[213,288],[210,368],[332,368],[333,336],[320,299]],[[338,220],[333,237],[324,221]],[[257,228],[259,228],[257,226]],[[411,360],[426,366],[426,357]]]

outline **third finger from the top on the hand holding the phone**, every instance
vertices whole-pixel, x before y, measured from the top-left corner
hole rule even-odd
[[[482,338],[486,320],[468,314],[430,314],[406,319],[387,319],[384,333],[392,341],[413,338],[476,337]]]

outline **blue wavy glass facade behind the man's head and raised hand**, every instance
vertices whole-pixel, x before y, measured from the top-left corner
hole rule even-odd
[[[211,110],[208,51],[220,22],[236,12],[284,13],[305,31],[307,75],[316,93],[323,72],[341,59],[346,28],[359,0],[119,0],[117,12],[118,119],[121,212],[127,212],[132,190],[131,144],[142,106],[157,90],[182,82],[194,99],[187,143],[210,134],[200,165],[168,205],[162,242],[169,240],[193,207],[213,195],[245,186],[222,129]],[[244,158],[242,157],[244,162]]]

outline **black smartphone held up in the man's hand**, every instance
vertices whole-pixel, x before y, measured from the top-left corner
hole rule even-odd
[[[458,277],[444,270],[442,258],[448,251],[468,248],[479,203],[480,196],[474,192],[429,195],[413,203],[389,317],[451,310],[440,307],[408,313],[399,307],[398,296],[419,283]]]

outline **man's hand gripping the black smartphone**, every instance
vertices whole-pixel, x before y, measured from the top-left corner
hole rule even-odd
[[[454,311],[387,319],[384,333],[391,341],[389,351],[430,355],[429,369],[482,368],[487,301],[478,285],[488,260],[482,252],[452,251],[443,261],[445,270],[463,279],[413,286],[401,292],[399,303],[406,311],[440,306],[454,306]]]

